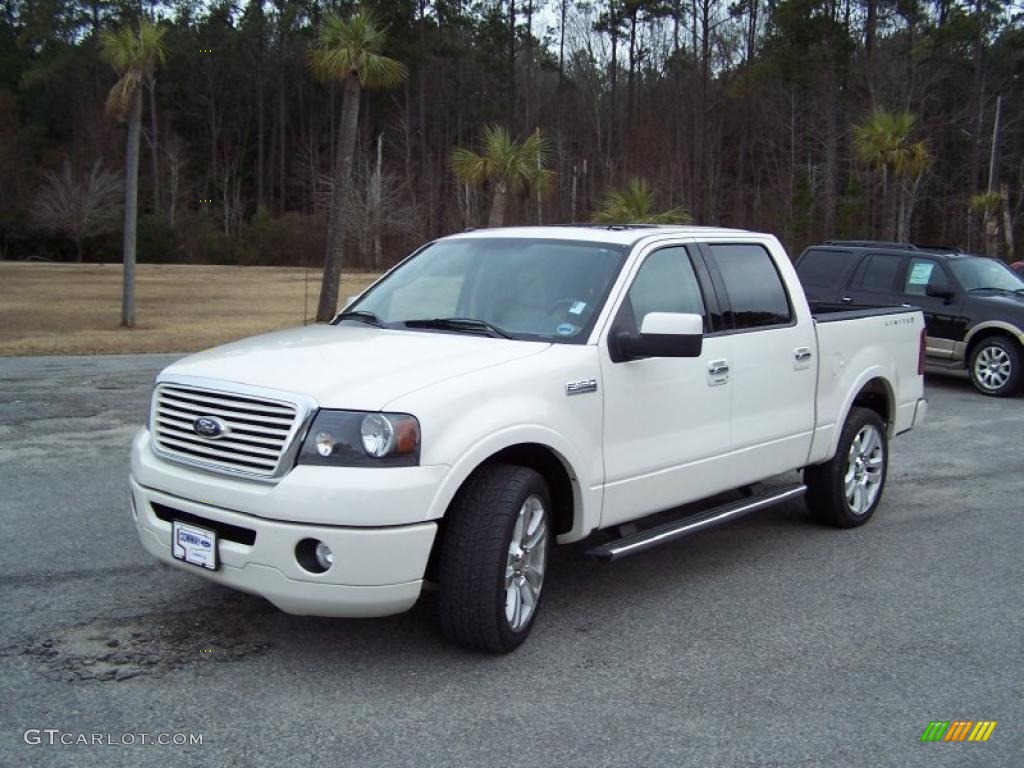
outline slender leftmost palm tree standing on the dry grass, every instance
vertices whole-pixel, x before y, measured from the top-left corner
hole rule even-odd
[[[120,76],[106,96],[106,113],[119,122],[128,122],[125,150],[125,232],[124,285],[121,295],[121,325],[135,325],[135,228],[138,219],[138,138],[142,127],[142,84],[153,77],[158,63],[166,58],[164,33],[147,18],[138,27],[103,30],[99,35],[100,55]]]

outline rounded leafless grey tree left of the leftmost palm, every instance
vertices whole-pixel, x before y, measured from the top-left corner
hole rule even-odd
[[[71,238],[81,262],[87,238],[117,229],[121,189],[121,179],[103,170],[98,160],[84,179],[75,178],[71,163],[65,161],[60,173],[46,174],[30,215],[40,228]]]

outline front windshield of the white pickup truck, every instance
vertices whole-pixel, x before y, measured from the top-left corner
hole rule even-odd
[[[605,243],[443,240],[409,259],[346,310],[372,312],[384,328],[422,330],[423,321],[472,319],[482,324],[427,327],[479,333],[486,331],[485,325],[495,330],[493,335],[583,344],[625,258],[625,247]]]

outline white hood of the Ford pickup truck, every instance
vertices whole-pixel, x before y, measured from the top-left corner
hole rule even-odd
[[[184,357],[164,376],[196,376],[312,397],[324,408],[379,411],[445,379],[537,354],[546,342],[467,334],[308,326]]]

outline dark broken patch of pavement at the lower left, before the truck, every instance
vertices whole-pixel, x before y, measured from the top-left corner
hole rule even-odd
[[[187,612],[101,618],[30,640],[8,651],[34,658],[66,682],[129,680],[202,664],[262,654],[270,646],[265,616],[274,612],[229,605]]]

